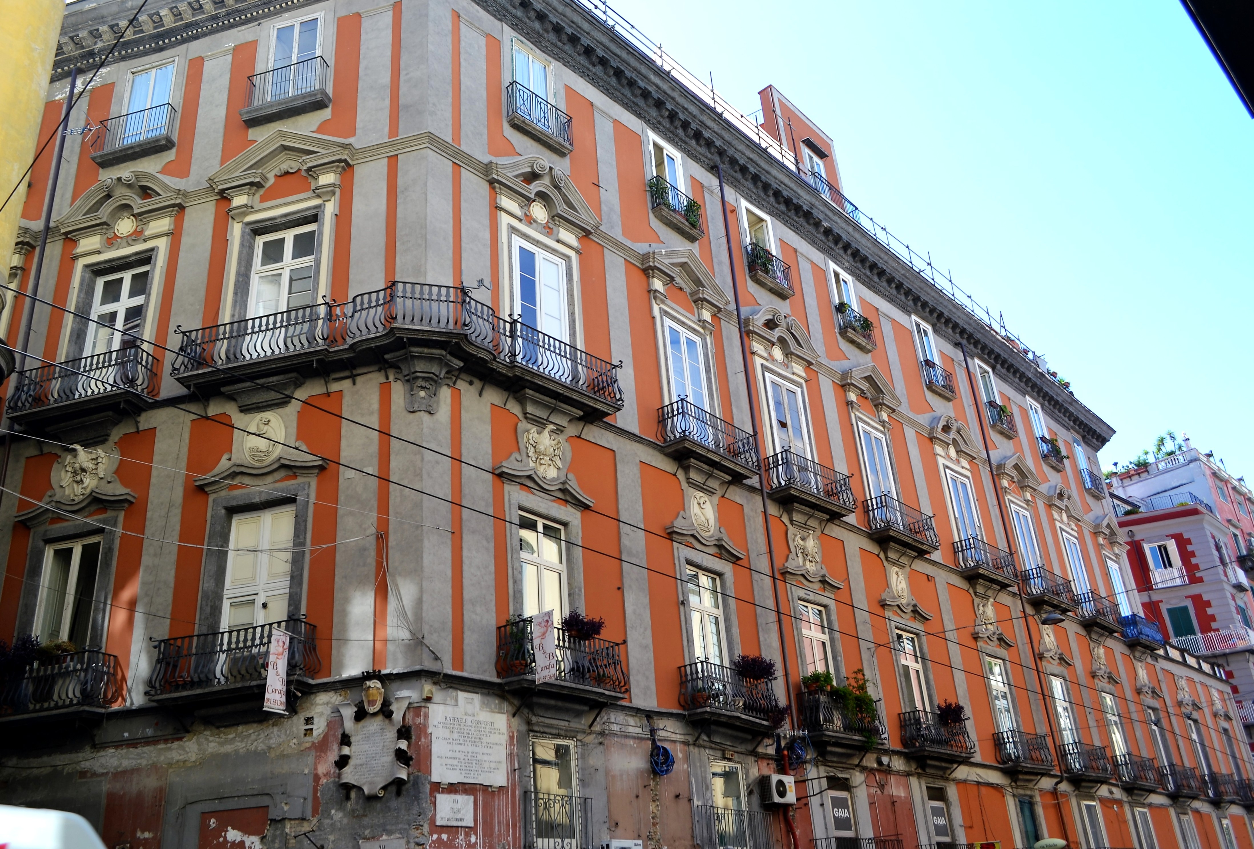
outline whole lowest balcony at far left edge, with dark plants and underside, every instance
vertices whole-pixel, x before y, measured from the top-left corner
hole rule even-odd
[[[0,678],[0,729],[70,730],[102,719],[125,696],[127,682],[114,655],[89,648],[35,660]]]

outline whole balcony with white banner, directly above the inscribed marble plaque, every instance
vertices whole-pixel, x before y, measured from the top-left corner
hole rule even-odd
[[[535,682],[532,620],[523,617],[497,628],[497,677],[505,690],[543,691],[551,707],[577,705],[586,710],[622,701],[630,686],[623,670],[622,643],[601,637],[578,637],[554,628],[557,677]]]

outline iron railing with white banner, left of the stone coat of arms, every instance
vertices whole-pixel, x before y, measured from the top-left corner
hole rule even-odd
[[[282,620],[246,628],[158,640],[157,665],[148,678],[148,692],[164,696],[236,683],[263,683],[275,628],[291,635],[287,648],[288,681],[316,676],[322,668],[315,643],[317,628],[305,620]]]

